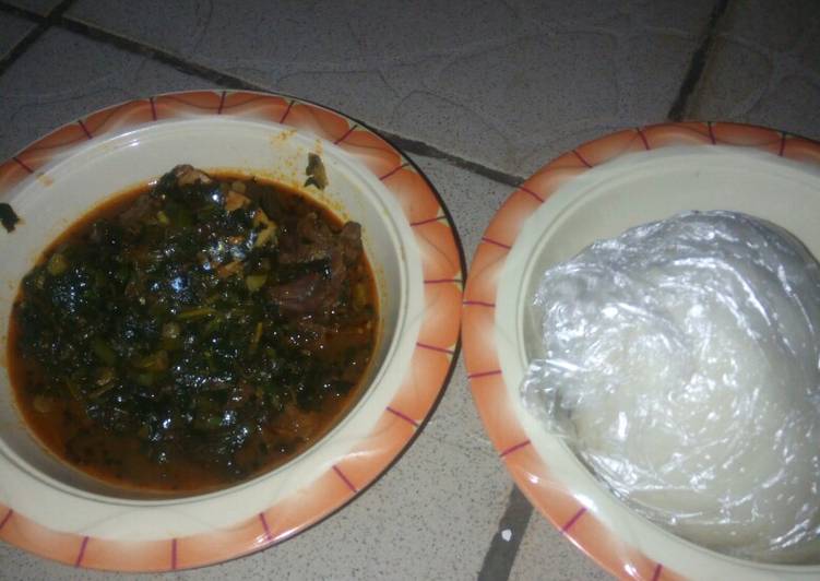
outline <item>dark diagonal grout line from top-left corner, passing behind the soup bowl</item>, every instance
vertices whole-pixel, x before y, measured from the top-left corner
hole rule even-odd
[[[41,16],[39,14],[36,14],[35,12],[8,4],[7,2],[0,0],[0,11],[22,16],[26,20],[38,23],[37,28],[35,28],[37,34],[34,35],[35,31],[32,31],[32,33],[29,33],[29,36],[32,36],[31,39],[26,42],[26,39],[28,38],[28,36],[26,36],[26,38],[24,38],[20,44],[17,44],[17,46],[14,47],[14,49],[12,50],[14,52],[13,59],[10,59],[10,61],[5,63],[4,67],[4,59],[0,60],[0,74],[5,68],[8,68],[8,66],[16,60],[16,58],[25,52],[28,46],[31,46],[49,26],[54,25],[60,26],[67,31],[82,35],[86,38],[91,38],[92,40],[107,44],[121,50],[140,55],[157,62],[162,62],[163,64],[167,64],[182,73],[198,76],[225,88],[261,91],[265,93],[271,91],[269,87],[265,87],[261,84],[252,83],[239,76],[235,76],[233,74],[224,73],[210,67],[188,61],[177,55],[174,55],[173,52],[144,45],[119,34],[115,34],[103,28],[92,26],[87,23],[71,19],[69,16],[64,16],[63,13],[74,1],[75,0],[64,0],[62,3],[58,4],[58,7],[52,10],[47,16]],[[440,150],[439,147],[436,147],[435,145],[430,145],[423,141],[405,138],[373,126],[367,127],[384,137],[388,141],[392,142],[403,152],[439,159],[462,169],[477,174],[482,177],[488,178],[492,181],[503,183],[506,186],[518,187],[525,180],[525,178],[521,176],[487,167],[477,162],[472,162],[459,155],[448,153],[443,150]]]

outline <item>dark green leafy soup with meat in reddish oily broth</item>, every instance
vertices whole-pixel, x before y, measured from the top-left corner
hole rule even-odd
[[[378,328],[358,224],[278,183],[179,166],[48,247],[21,283],[8,359],[58,458],[197,494],[326,434],[364,389]]]

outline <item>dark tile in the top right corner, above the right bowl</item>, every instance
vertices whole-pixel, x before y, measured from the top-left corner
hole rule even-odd
[[[813,0],[735,0],[689,117],[820,139],[820,10]]]

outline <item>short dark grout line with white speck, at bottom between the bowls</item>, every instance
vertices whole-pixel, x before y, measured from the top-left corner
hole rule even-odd
[[[507,509],[498,523],[498,531],[484,556],[478,581],[499,581],[510,578],[532,515],[533,506],[518,486],[513,486]],[[504,538],[504,533],[507,533],[507,538]]]

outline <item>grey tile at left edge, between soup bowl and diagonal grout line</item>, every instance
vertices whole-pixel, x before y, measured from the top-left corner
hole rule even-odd
[[[0,76],[0,159],[95,109],[212,83],[51,28]]]

